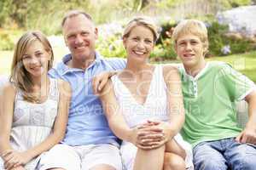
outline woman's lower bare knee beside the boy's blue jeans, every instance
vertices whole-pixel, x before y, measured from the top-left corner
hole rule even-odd
[[[164,159],[164,170],[183,170],[186,168],[182,156],[173,153],[166,153]]]

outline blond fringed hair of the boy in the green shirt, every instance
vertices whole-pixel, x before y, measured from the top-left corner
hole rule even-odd
[[[174,45],[177,45],[177,39],[186,34],[193,34],[200,38],[203,43],[203,48],[205,49],[204,54],[207,54],[208,51],[208,35],[207,35],[207,27],[200,20],[182,20],[177,26],[174,28],[172,33],[172,38],[174,41]]]

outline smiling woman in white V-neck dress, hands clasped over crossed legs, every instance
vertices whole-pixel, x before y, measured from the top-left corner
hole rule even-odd
[[[100,94],[109,127],[124,140],[121,155],[128,170],[180,170],[192,165],[189,144],[178,134],[184,122],[179,73],[170,65],[148,64],[157,37],[156,26],[148,19],[131,20],[123,36],[125,70]]]

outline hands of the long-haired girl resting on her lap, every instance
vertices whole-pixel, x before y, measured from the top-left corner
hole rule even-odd
[[[27,152],[18,152],[16,150],[6,150],[3,152],[4,167],[12,169],[14,167],[24,166],[32,160]]]

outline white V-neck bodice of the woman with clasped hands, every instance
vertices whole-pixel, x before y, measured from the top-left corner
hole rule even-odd
[[[118,75],[112,77],[112,82],[115,96],[129,127],[135,127],[148,119],[168,121],[166,82],[161,65],[154,68],[148,96],[143,105],[137,103]]]

